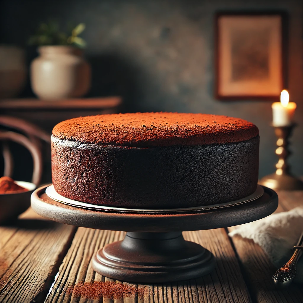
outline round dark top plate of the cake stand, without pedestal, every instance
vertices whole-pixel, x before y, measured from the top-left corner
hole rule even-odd
[[[66,205],[49,198],[45,189],[36,189],[31,205],[36,213],[53,221],[80,227],[116,231],[170,232],[222,228],[264,218],[278,207],[278,195],[264,187],[264,194],[241,205],[182,214],[137,214],[94,211]]]

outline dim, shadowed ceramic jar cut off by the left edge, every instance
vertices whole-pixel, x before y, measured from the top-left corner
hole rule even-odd
[[[0,98],[16,97],[24,87],[25,80],[24,50],[0,45]]]

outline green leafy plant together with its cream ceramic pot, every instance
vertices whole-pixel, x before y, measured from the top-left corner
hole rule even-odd
[[[42,23],[30,37],[29,44],[38,45],[39,53],[31,64],[31,85],[40,99],[76,98],[88,92],[91,68],[81,49],[86,43],[78,37],[84,29],[80,23],[68,36],[57,23]]]

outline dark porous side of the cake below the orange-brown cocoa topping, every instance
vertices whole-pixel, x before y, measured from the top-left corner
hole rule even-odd
[[[258,182],[259,136],[204,146],[124,147],[52,136],[52,181],[73,200],[128,208],[234,201]]]

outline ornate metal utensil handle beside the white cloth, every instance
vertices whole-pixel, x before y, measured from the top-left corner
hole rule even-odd
[[[293,249],[295,252],[290,260],[278,269],[272,277],[275,285],[278,287],[287,287],[295,278],[296,265],[303,252],[303,232],[299,238],[298,244],[294,246]]]

